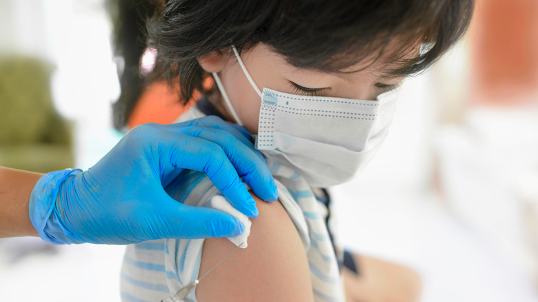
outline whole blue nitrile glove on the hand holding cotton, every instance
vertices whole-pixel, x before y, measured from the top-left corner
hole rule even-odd
[[[237,210],[256,217],[239,176],[266,201],[277,199],[277,189],[247,136],[217,117],[139,125],[89,170],[41,177],[30,196],[30,220],[42,239],[58,244],[236,236],[243,232],[237,219],[183,205],[163,187],[183,169],[204,171]]]

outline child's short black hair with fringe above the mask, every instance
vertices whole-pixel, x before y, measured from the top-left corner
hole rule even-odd
[[[204,92],[199,57],[257,43],[298,68],[341,72],[374,55],[397,66],[388,76],[417,74],[464,34],[473,8],[474,0],[170,0],[148,19],[157,50],[150,79],[179,81],[187,102]],[[392,41],[399,47],[388,50]],[[419,45],[424,51],[409,57]]]

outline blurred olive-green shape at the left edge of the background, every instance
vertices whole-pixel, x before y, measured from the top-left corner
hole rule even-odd
[[[35,172],[72,168],[72,122],[52,103],[53,71],[33,57],[0,58],[0,165]]]

